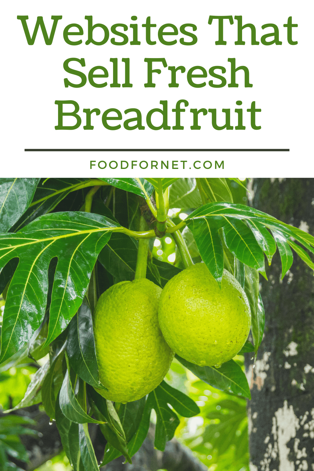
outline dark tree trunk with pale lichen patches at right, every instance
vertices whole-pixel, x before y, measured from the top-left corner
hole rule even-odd
[[[254,179],[252,205],[314,234],[314,179]],[[251,471],[314,470],[314,277],[294,253],[281,281],[278,250],[261,277],[265,335],[247,364]]]

